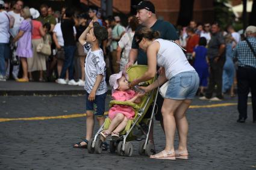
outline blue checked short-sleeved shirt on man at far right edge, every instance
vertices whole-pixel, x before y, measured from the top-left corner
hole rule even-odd
[[[248,37],[248,41],[252,45],[252,49],[256,52],[256,38]],[[254,67],[256,68],[256,57],[246,41],[240,41],[234,49],[233,58],[237,59],[237,65],[240,67]]]

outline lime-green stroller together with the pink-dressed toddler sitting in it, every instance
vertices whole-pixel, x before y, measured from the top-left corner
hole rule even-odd
[[[143,75],[147,70],[148,67],[146,65],[134,65],[133,67],[128,68],[128,70],[126,70],[126,73],[128,74],[129,78],[128,81],[131,82],[132,80],[137,79],[139,76]],[[120,74],[121,73],[119,73],[119,76]],[[127,77],[122,76],[122,79],[120,80],[123,80],[123,85],[126,87],[127,85],[129,85],[129,83],[126,81],[125,78]],[[155,79],[156,77],[146,82],[142,82],[139,84],[139,86],[148,86],[149,84],[153,83]],[[116,85],[114,85],[114,83],[111,82],[110,84],[112,84],[113,87],[115,86],[114,89],[117,89],[119,87],[117,81]],[[128,87],[126,88],[128,89]],[[136,140],[140,141],[139,154],[146,154],[147,156],[150,156],[151,154],[154,153],[155,150],[154,144],[148,142],[148,135],[151,127],[152,117],[155,111],[155,103],[157,99],[158,90],[150,91],[146,93],[145,96],[143,96],[143,92],[136,94],[133,90],[126,90],[126,93],[119,91],[120,90],[118,90],[118,93],[123,94],[123,96],[118,94],[118,100],[110,101],[110,114],[108,115],[109,117],[105,119],[104,124],[102,124],[96,135],[89,140],[87,150],[89,153],[101,154],[102,142],[105,140],[104,138],[107,138],[107,136],[111,135],[111,138],[107,138],[107,140],[110,141],[110,153],[117,152],[119,156],[131,156],[133,153],[133,145],[131,141]],[[115,92],[117,93],[117,91],[114,91],[114,96]],[[137,96],[138,94],[139,96]],[[120,101],[119,97],[123,98],[122,101]],[[117,98],[114,97],[114,99]],[[140,101],[138,101],[139,98],[141,98]],[[147,116],[149,115],[149,117],[147,117],[145,115],[148,111],[148,108],[151,105],[152,112],[148,112]],[[120,120],[118,121],[118,123],[114,123],[114,118],[117,118],[117,114],[120,112],[119,107],[123,106],[126,107],[126,112],[124,114],[119,114]],[[113,127],[111,127],[110,124],[112,124],[111,126]]]

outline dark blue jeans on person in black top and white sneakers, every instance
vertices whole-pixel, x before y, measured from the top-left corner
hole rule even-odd
[[[73,59],[75,56],[76,46],[64,46],[65,59],[60,73],[60,79],[64,79],[67,68],[69,69],[69,80],[73,79]]]

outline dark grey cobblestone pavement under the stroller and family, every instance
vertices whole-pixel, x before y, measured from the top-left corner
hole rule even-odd
[[[106,106],[109,100],[110,96]],[[196,99],[192,105],[236,100]],[[0,118],[30,118],[81,114],[85,102],[84,96],[8,96],[0,97],[0,103]],[[133,142],[132,157],[72,148],[85,135],[85,117],[4,121],[0,122],[0,169],[256,169],[256,124],[252,123],[251,105],[245,124],[236,123],[237,116],[236,105],[189,109],[189,160],[140,156],[137,141]],[[157,121],[154,134],[156,149],[161,151],[165,138]]]

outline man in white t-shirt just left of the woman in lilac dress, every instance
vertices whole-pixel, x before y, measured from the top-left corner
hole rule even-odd
[[[19,26],[21,25],[21,22],[23,19],[22,16],[20,16],[20,12],[23,8],[23,1],[22,0],[17,0],[15,5],[14,5],[14,10],[8,12],[8,14],[12,17],[14,17],[14,25],[13,28],[10,29],[11,36],[15,37],[17,33],[19,32]],[[14,65],[13,66],[13,78],[17,79],[17,76],[19,74],[19,65]]]

